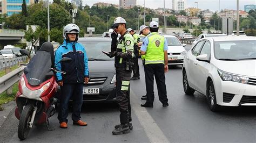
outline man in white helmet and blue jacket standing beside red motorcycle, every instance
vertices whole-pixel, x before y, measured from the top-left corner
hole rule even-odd
[[[83,85],[89,82],[88,59],[85,48],[78,43],[80,29],[76,24],[68,24],[63,28],[64,42],[55,53],[55,64],[58,70],[66,74],[57,73],[57,83],[60,85],[60,111],[58,114],[61,128],[67,128],[69,114],[69,100],[73,99],[72,120],[74,125],[86,126],[85,121],[80,120],[80,112],[83,104]],[[71,58],[70,62],[58,63],[63,57]]]

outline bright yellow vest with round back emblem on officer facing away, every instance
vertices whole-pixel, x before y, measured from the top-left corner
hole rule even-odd
[[[149,63],[164,63],[164,37],[157,32],[147,35],[149,44],[147,45],[145,65]]]

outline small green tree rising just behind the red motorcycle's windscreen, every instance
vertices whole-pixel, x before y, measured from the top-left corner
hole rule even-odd
[[[48,35],[48,32],[46,29],[43,29],[40,26],[36,27],[36,30],[33,31],[31,25],[29,25],[29,28],[27,31],[25,31],[25,36],[24,38],[26,39],[26,41],[31,42],[31,46],[34,47],[37,42],[39,41],[39,39],[46,39]],[[30,49],[29,54],[31,53],[32,48]]]

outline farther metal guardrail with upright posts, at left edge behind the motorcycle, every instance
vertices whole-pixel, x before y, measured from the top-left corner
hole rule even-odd
[[[18,65],[19,62],[25,62],[25,61],[26,61],[26,56],[19,56],[12,59],[0,59],[0,71],[8,67]]]

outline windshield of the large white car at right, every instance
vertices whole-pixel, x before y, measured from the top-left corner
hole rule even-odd
[[[256,41],[221,41],[214,44],[217,60],[255,60]]]

